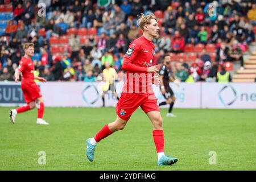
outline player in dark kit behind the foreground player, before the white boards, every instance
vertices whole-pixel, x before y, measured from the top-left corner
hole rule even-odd
[[[174,102],[176,100],[174,96],[174,92],[172,91],[169,82],[174,81],[177,84],[177,81],[172,77],[171,69],[171,56],[169,54],[164,55],[163,57],[163,65],[160,68],[160,91],[162,92],[166,101],[159,103],[159,106],[170,104],[167,117],[176,117],[176,115],[172,114],[172,107],[174,107]]]

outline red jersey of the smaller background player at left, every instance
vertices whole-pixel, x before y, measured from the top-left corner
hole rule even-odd
[[[31,59],[26,57],[22,57],[19,61],[18,70],[21,72],[22,75],[22,82],[34,82],[34,64]]]

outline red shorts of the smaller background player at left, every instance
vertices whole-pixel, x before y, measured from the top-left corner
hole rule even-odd
[[[32,84],[22,83],[21,88],[27,104],[35,101],[37,98],[42,97],[40,88],[35,82]]]

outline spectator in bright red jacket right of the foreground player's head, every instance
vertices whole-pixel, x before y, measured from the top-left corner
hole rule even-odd
[[[185,40],[180,35],[180,32],[176,30],[171,40],[172,52],[175,52],[175,53],[183,52],[184,47],[185,47]]]

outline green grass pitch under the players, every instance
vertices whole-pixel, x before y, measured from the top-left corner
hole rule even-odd
[[[114,121],[113,107],[46,108],[49,126],[36,125],[37,110],[9,121],[10,107],[0,107],[0,170],[255,170],[256,110],[161,109],[165,153],[179,161],[157,166],[152,125],[141,109],[125,130],[102,140],[89,162],[85,140]],[[38,164],[39,151],[46,164]],[[209,164],[210,151],[217,164]]]

